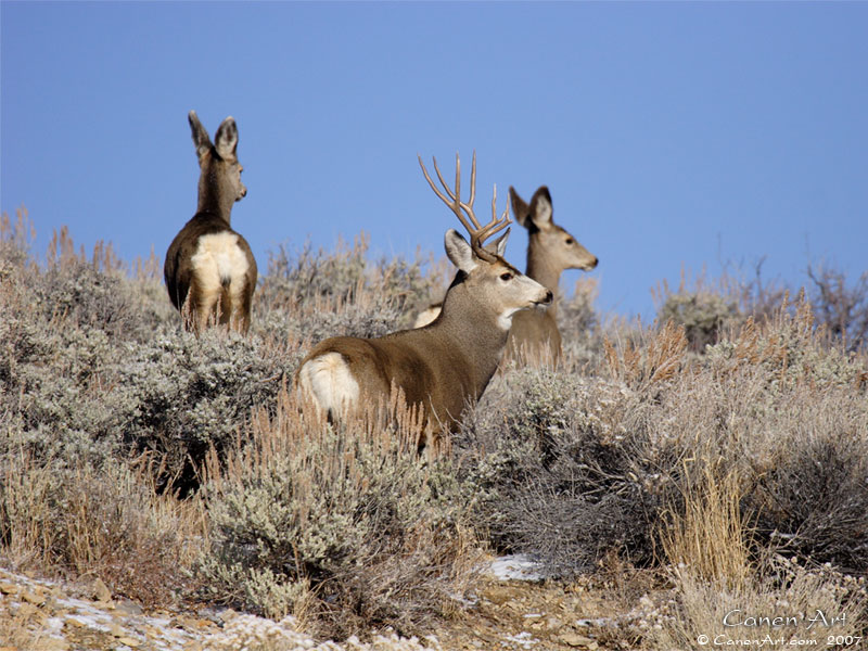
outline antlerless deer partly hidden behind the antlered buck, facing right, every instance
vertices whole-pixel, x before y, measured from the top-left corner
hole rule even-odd
[[[541,186],[531,203],[519,196],[510,186],[510,202],[516,221],[528,231],[527,276],[557,296],[561,273],[566,269],[589,271],[597,266],[597,257],[588,252],[566,230],[552,219],[551,194]],[[512,319],[506,359],[556,363],[561,356],[561,333],[557,321],[557,302],[545,311],[529,310]],[[439,314],[439,304],[431,305],[416,320],[422,327]]]

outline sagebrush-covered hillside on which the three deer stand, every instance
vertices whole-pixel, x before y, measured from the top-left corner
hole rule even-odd
[[[409,327],[442,263],[281,248],[250,335],[196,339],[157,259],[65,230],[37,255],[30,228],[0,228],[0,649],[232,648],[248,615],[299,631],[261,651],[865,643],[864,279],[664,285],[651,326],[582,281],[563,363],[505,365],[420,459],[401,405],[332,426],[292,379],[327,336]],[[547,578],[494,578],[502,554]],[[199,635],[58,634],[73,598]]]

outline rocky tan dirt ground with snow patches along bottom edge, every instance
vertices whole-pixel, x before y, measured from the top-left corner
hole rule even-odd
[[[600,578],[564,584],[503,580],[492,575],[473,601],[462,604],[455,617],[431,631],[433,638],[395,639],[370,646],[361,642],[318,646],[310,638],[293,633],[296,637],[269,638],[282,642],[259,648],[263,651],[628,649],[633,644],[618,630],[618,613],[628,610],[628,602],[637,598],[634,588],[628,593],[617,582]],[[0,651],[241,649],[250,644],[247,638],[239,637],[242,620],[248,628],[260,628],[260,633],[250,635],[251,639],[266,639],[263,631],[276,626],[268,620],[233,611],[192,605],[188,612],[145,612],[135,602],[113,598],[99,579],[73,586],[0,570]]]

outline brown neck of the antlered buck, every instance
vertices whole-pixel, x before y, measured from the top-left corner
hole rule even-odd
[[[463,283],[452,285],[446,294],[436,330],[470,363],[474,398],[482,395],[503,355],[509,328],[501,326],[499,315],[481,305]]]

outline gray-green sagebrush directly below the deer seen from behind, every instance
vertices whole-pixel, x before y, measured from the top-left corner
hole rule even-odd
[[[254,406],[273,404],[298,358],[297,352],[275,355],[261,340],[216,328],[200,337],[176,331],[130,346],[117,369],[117,391],[132,407],[124,444],[156,452],[162,484],[187,494],[199,483],[208,449],[228,447]]]

